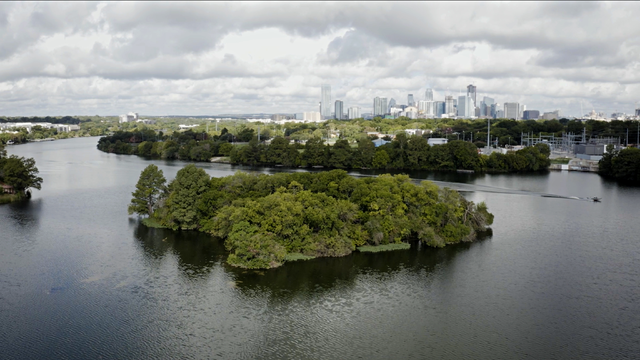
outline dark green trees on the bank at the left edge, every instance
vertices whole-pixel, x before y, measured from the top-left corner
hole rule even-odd
[[[33,158],[25,159],[15,155],[7,156],[4,146],[0,144],[0,184],[9,185],[9,194],[0,188],[1,203],[7,203],[31,197],[29,188],[40,190],[42,178],[38,177],[38,168]]]

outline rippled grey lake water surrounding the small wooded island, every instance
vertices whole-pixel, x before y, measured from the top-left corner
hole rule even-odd
[[[172,179],[183,163],[96,142],[8,148],[34,157],[44,184],[0,206],[0,358],[640,358],[638,188],[583,173],[414,173],[486,201],[492,236],[243,271],[203,234],[127,215],[145,166]]]

